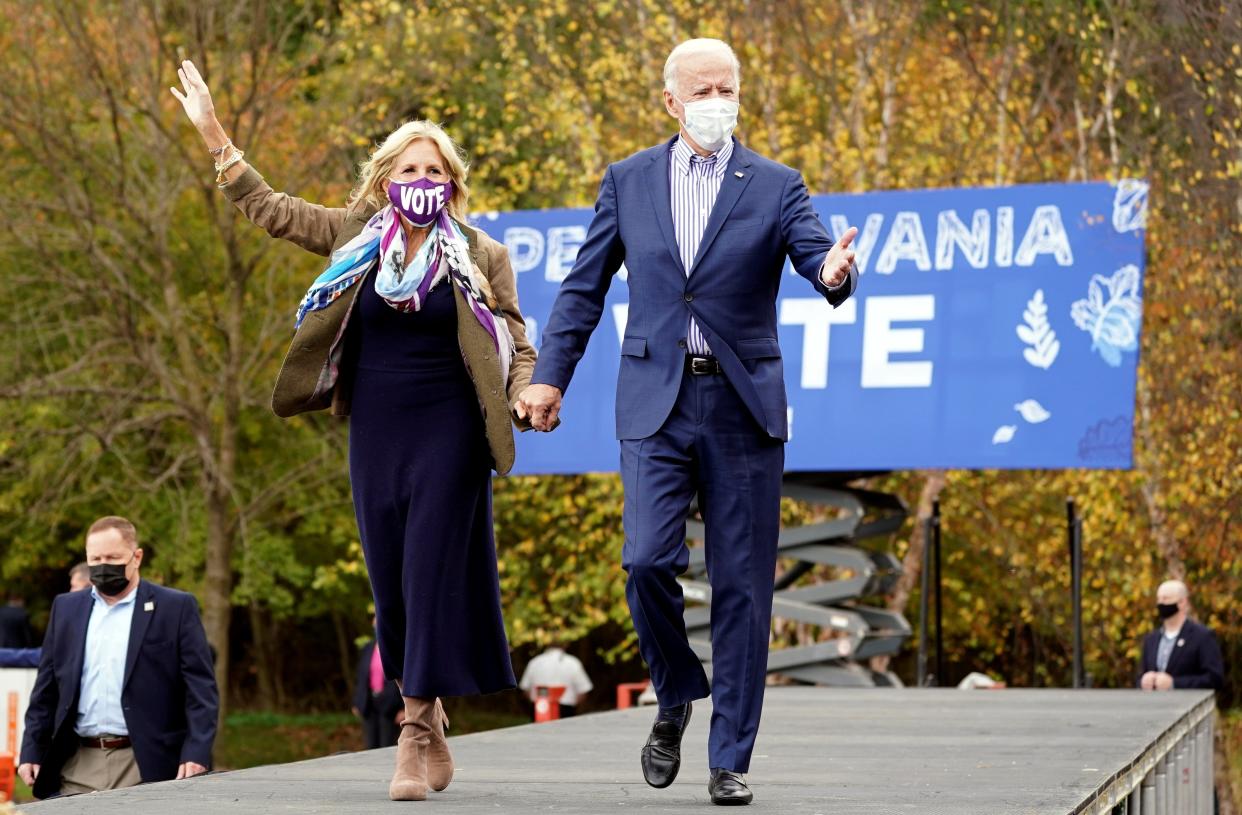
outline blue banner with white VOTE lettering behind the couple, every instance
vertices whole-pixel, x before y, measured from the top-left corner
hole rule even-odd
[[[1131,466],[1146,181],[812,196],[859,229],[831,308],[786,262],[777,314],[792,471]],[[488,212],[538,347],[590,209]],[[626,270],[565,395],[514,472],[617,468]]]

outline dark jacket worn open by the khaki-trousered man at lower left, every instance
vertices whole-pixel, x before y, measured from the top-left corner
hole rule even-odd
[[[220,697],[194,595],[147,580],[135,591],[120,704],[143,781],[164,781],[183,762],[211,767]],[[52,601],[21,743],[21,763],[42,765],[39,798],[60,791],[61,768],[78,748],[73,727],[93,603],[91,591]]]

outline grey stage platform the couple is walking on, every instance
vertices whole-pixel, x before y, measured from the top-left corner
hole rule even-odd
[[[1112,813],[1120,801],[1119,811],[1130,814],[1210,813],[1203,790],[1211,711],[1211,693],[1199,691],[774,687],[748,775],[755,803],[744,811],[1066,815]],[[425,803],[388,800],[388,749],[42,801],[22,811],[715,811],[707,798],[709,713],[707,702],[697,704],[681,776],[664,790],[642,781],[638,749],[653,711],[640,708],[453,738],[457,775]]]

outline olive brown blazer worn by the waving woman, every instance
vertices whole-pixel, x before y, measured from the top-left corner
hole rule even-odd
[[[324,257],[355,237],[375,212],[370,207],[320,206],[277,193],[252,166],[220,189],[251,222],[272,237],[284,239]],[[457,301],[457,342],[478,394],[493,466],[503,476],[513,467],[513,425],[529,429],[528,422],[513,415],[510,405],[530,384],[535,350],[527,339],[525,322],[518,309],[517,281],[504,245],[479,230],[465,224],[460,226],[469,242],[471,260],[491,285],[497,307],[513,334],[514,354],[509,381],[505,383],[501,380],[501,360],[496,355],[492,335],[471,313],[461,289],[452,287]],[[355,283],[325,308],[306,314],[276,379],[272,410],[277,416],[325,409],[332,409],[337,416],[349,415],[353,370],[347,352],[350,340],[348,328],[358,293],[366,283],[368,280]]]

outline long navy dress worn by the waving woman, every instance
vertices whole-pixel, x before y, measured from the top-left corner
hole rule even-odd
[[[514,686],[492,538],[492,456],[452,282],[399,312],[360,283],[349,478],[384,672],[405,696]]]

